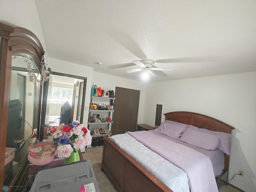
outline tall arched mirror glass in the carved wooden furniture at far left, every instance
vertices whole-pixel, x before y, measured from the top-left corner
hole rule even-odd
[[[26,143],[35,138],[40,114],[40,70],[28,54],[12,56],[6,149],[10,162],[5,162],[4,184],[10,184],[19,172]],[[30,142],[29,142],[30,143]],[[14,152],[14,153],[13,153]],[[11,157],[12,156],[12,157]]]

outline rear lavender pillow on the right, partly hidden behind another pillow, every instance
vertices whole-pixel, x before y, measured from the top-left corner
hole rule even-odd
[[[230,155],[230,148],[231,148],[231,141],[232,141],[231,134],[219,132],[219,131],[211,131],[211,130],[204,129],[204,128],[198,128],[193,125],[188,125],[188,128],[217,136],[218,138],[220,138],[220,144],[219,144],[218,148],[222,152],[226,153],[227,155]]]

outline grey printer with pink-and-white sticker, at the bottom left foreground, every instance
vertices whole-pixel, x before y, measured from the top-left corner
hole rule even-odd
[[[30,192],[100,192],[90,161],[49,167],[41,170]]]

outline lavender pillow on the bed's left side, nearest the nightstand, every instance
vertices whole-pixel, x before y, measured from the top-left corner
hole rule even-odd
[[[179,139],[187,126],[187,124],[166,120],[155,131]]]

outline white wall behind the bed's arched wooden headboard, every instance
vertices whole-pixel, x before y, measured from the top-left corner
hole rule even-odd
[[[230,184],[246,192],[256,191],[256,72],[151,83],[145,95],[143,123],[151,126],[156,104],[162,104],[162,114],[196,112],[236,128],[232,131],[229,180],[238,169],[244,171],[244,177],[236,175]]]

